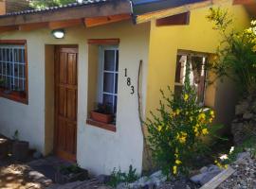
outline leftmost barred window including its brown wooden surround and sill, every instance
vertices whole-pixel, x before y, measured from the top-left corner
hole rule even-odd
[[[27,49],[24,41],[0,41],[0,95],[27,103]]]

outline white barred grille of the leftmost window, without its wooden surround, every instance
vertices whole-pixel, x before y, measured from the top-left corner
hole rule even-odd
[[[1,79],[11,91],[25,91],[25,46],[0,45]],[[20,69],[21,68],[21,69]]]

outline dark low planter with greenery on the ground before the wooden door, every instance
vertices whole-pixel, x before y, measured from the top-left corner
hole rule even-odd
[[[64,184],[67,182],[73,182],[77,180],[88,180],[88,171],[82,169],[77,164],[71,164],[68,166],[60,166],[55,173],[55,182]]]

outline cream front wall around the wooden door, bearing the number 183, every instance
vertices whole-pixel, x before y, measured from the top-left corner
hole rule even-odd
[[[146,99],[146,78],[150,25],[134,26],[131,22],[94,28],[65,29],[65,38],[56,40],[50,30],[1,34],[0,40],[27,40],[28,105],[0,98],[0,132],[11,136],[19,129],[21,138],[32,147],[46,150],[46,44],[79,44],[78,60],[78,146],[77,162],[92,174],[109,174],[114,167],[128,170],[133,164],[142,166],[142,137],[137,114],[137,93],[130,94],[124,68],[137,89],[139,60],[143,60],[143,107]],[[119,99],[117,132],[85,124],[88,90],[87,39],[119,38]],[[48,151],[48,150],[47,150]]]

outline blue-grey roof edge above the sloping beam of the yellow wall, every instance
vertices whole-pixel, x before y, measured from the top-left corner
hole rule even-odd
[[[141,15],[162,9],[172,9],[204,1],[206,0],[137,0],[133,1],[133,11],[135,15]]]

